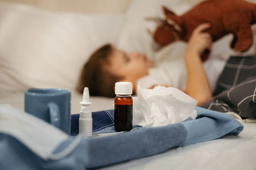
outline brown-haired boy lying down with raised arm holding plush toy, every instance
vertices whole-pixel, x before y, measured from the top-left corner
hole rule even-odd
[[[146,82],[144,84],[147,88],[156,85],[177,87],[196,99],[198,105],[205,103],[211,99],[212,92],[200,55],[205,49],[211,50],[211,35],[204,32],[209,27],[209,24],[198,25],[188,41],[184,53],[185,67],[178,66],[178,69],[186,69],[187,80],[184,82],[179,82],[177,76],[182,75],[177,73],[177,68],[173,71],[177,67],[175,62],[168,66],[170,70],[165,73],[166,76],[161,71],[157,72],[157,69],[154,71],[152,62],[145,55],[138,52],[125,53],[111,45],[104,45],[84,65],[77,90],[83,93],[84,87],[88,87],[92,96],[114,97],[116,81],[132,82],[133,92],[138,82]],[[165,76],[166,80],[161,79],[161,76]]]

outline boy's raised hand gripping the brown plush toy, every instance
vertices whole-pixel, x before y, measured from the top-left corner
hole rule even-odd
[[[188,41],[186,53],[195,53],[200,56],[205,49],[211,51],[211,35],[207,32],[203,32],[205,29],[209,29],[209,27],[211,27],[210,24],[200,24],[195,28]]]

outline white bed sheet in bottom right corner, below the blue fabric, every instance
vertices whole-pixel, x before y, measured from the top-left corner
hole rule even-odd
[[[256,124],[243,123],[239,136],[168,150],[101,169],[256,169]],[[125,154],[125,153],[124,153]]]

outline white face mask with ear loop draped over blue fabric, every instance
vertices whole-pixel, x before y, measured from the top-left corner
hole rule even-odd
[[[77,137],[64,150],[53,153],[69,136],[44,120],[16,110],[8,104],[0,104],[0,132],[18,139],[44,160],[65,157],[81,140]]]

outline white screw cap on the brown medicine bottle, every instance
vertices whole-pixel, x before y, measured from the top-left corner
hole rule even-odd
[[[115,83],[115,94],[132,94],[132,83],[129,81],[119,81]]]

